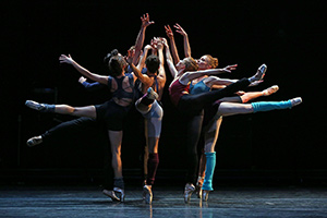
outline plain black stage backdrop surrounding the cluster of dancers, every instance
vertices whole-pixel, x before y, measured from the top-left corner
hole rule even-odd
[[[141,15],[155,24],[145,44],[166,37],[164,25],[179,23],[189,34],[192,56],[210,53],[220,66],[238,63],[232,78],[251,76],[268,65],[265,82],[249,90],[279,85],[277,94],[257,100],[301,96],[291,110],[225,118],[216,146],[216,179],[252,182],[327,179],[326,7],[325,1],[1,1],[1,145],[2,182],[94,182],[101,179],[102,140],[96,133],[66,135],[56,144],[28,148],[26,140],[73,117],[45,114],[24,106],[26,99],[86,106],[104,93],[88,93],[61,53],[86,69],[106,73],[104,56],[134,45]],[[183,57],[182,36],[174,34]],[[168,82],[171,76],[167,71]],[[47,88],[47,93],[40,92]],[[164,94],[165,118],[159,145],[159,179],[181,179],[184,164],[183,123]],[[132,111],[125,126],[123,168],[140,175],[143,135]],[[59,179],[58,179],[59,178]],[[159,180],[158,179],[158,180]]]

